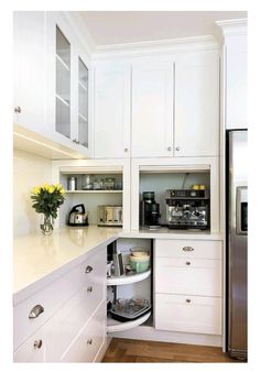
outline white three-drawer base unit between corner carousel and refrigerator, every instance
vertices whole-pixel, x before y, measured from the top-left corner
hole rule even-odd
[[[220,258],[220,241],[155,240],[155,329],[221,335]]]

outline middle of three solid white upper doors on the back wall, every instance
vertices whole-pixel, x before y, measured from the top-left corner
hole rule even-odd
[[[173,155],[173,63],[142,59],[132,65],[133,157]]]

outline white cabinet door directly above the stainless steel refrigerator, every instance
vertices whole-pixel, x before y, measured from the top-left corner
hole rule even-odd
[[[247,128],[247,36],[227,39],[226,128]]]

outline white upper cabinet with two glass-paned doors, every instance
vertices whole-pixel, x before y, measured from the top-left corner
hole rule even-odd
[[[58,12],[46,13],[46,121],[53,140],[89,155],[90,61]]]

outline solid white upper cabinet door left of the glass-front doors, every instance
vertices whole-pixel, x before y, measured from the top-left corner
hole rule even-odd
[[[13,14],[14,123],[44,132],[45,12]]]

